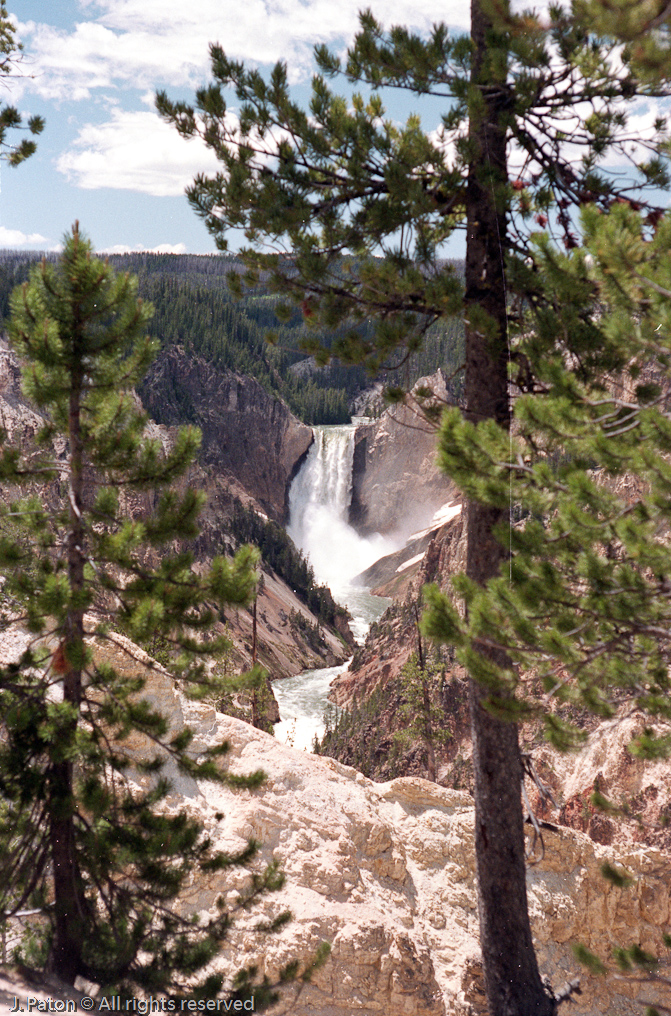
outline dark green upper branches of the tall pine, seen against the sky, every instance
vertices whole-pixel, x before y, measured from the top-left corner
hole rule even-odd
[[[627,104],[666,94],[666,79],[639,76],[627,50],[616,68],[608,41],[586,29],[583,18],[592,10],[585,4],[553,8],[546,22],[507,8],[490,16],[495,24],[481,73],[507,68],[501,127],[530,167],[516,181],[490,181],[509,219],[509,236],[499,238],[502,255],[528,248],[530,234],[550,214],[570,249],[576,241],[567,209],[589,202],[605,209],[619,194],[603,166],[607,155],[633,163],[653,181],[650,156],[636,165],[631,155]],[[415,356],[436,322],[461,315],[462,279],[439,255],[465,227],[469,120],[477,123],[484,106],[469,83],[474,50],[467,37],[444,24],[427,39],[399,25],[385,31],[370,12],[360,20],[344,63],[317,47],[320,73],[309,110],[293,101],[284,64],[265,80],[218,45],[210,47],[212,83],[196,92],[194,105],[161,92],[157,107],[183,136],[202,137],[221,163],[219,174],[197,177],[187,193],[220,249],[227,249],[230,230],[245,230],[239,256],[248,271],[236,273],[236,292],[263,278],[300,308],[315,353],[365,364],[375,374]],[[340,73],[368,94],[339,96],[328,79]],[[394,87],[445,100],[436,137],[416,114],[401,125],[386,115],[383,89]],[[230,92],[239,124],[227,113]],[[570,135],[583,154],[573,160],[561,142],[564,117],[578,104],[585,117],[571,120]],[[647,151],[659,151],[665,137],[660,123]],[[288,255],[274,253],[279,248]],[[520,281],[520,273],[510,275],[511,297],[526,292]],[[471,301],[469,313],[480,311]],[[325,350],[324,329],[340,329]]]

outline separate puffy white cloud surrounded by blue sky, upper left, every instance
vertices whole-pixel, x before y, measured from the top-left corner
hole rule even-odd
[[[84,126],[56,167],[84,190],[169,197],[183,194],[196,173],[216,172],[219,163],[201,141],[186,141],[156,113],[113,110],[107,123]]]

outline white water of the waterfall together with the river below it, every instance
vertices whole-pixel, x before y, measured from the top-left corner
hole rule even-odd
[[[348,523],[355,432],[355,424],[315,428],[314,443],[289,493],[288,532],[308,558],[317,582],[329,586],[333,598],[349,609],[352,633],[362,643],[390,600],[373,596],[353,579],[399,545],[379,533],[360,536]],[[342,663],[305,671],[273,682],[282,717],[274,726],[280,741],[311,750],[315,736],[324,731],[329,685],[347,668]]]

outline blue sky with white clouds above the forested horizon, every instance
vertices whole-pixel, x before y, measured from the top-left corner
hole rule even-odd
[[[0,82],[0,102],[40,114],[46,128],[27,162],[0,165],[0,248],[56,250],[78,219],[99,251],[212,252],[184,188],[216,160],[160,120],[156,90],[192,101],[219,42],[262,70],[285,60],[306,98],[313,47],[343,52],[363,6],[420,31],[469,21],[469,0],[8,0],[23,59],[21,76]],[[405,120],[413,102],[388,112]],[[420,112],[435,128],[437,106]]]

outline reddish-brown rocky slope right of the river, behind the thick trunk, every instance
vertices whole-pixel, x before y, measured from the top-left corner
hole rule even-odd
[[[431,538],[421,561],[413,566],[403,596],[394,601],[380,622],[373,627],[365,645],[356,651],[352,665],[331,686],[330,698],[342,708],[358,703],[359,727],[350,736],[350,744],[339,751],[344,761],[357,757],[358,746],[376,743],[369,754],[366,772],[389,771],[426,774],[426,760],[421,747],[415,746],[390,765],[393,733],[404,726],[400,711],[399,673],[413,652],[418,635],[415,618],[409,607],[418,601],[426,582],[443,587],[449,575],[463,571],[466,544],[463,519],[454,516]],[[450,787],[470,787],[471,737],[468,716],[466,672],[453,661],[446,661],[447,681],[443,688],[445,726],[450,737],[436,745],[437,779]],[[377,690],[377,694],[376,694]],[[381,691],[380,691],[381,690]],[[376,715],[365,715],[362,703],[376,694]],[[573,715],[572,717],[576,717]],[[539,775],[549,784],[558,809],[541,800],[535,788],[529,795],[539,818],[586,833],[605,846],[632,847],[649,845],[671,851],[671,764],[665,760],[647,762],[635,758],[627,745],[650,724],[650,718],[630,706],[623,706],[613,720],[602,722],[586,714],[582,718],[587,741],[576,752],[561,754],[543,739],[538,723],[521,726],[523,750],[533,753]],[[592,804],[598,790],[620,814],[608,815]]]

